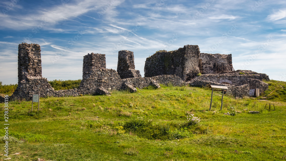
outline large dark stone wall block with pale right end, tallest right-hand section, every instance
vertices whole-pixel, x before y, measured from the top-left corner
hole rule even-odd
[[[185,45],[175,51],[158,51],[146,58],[145,77],[156,75],[177,75],[183,81],[188,81],[199,73],[198,45]]]

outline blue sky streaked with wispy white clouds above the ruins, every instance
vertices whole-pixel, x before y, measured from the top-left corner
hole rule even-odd
[[[286,81],[285,0],[2,0],[0,9],[3,84],[17,83],[22,42],[41,46],[48,80],[82,79],[83,56],[92,52],[117,69],[120,50],[134,52],[143,76],[146,57],[188,44],[232,54],[235,70]]]

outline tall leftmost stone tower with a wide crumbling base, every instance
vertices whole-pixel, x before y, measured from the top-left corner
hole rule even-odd
[[[31,99],[33,92],[40,97],[53,96],[53,88],[42,77],[41,48],[38,44],[21,43],[18,47],[18,87],[11,96]]]

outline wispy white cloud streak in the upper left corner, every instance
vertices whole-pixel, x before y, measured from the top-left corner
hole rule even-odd
[[[113,8],[119,5],[120,1],[114,1]],[[47,9],[40,9],[29,15],[5,16],[2,17],[3,23],[0,28],[9,28],[15,30],[32,29],[41,26],[46,30],[63,31],[63,29],[54,29],[53,25],[61,21],[74,21],[73,19],[87,12],[99,11],[102,7],[108,5],[104,0],[77,0],[75,3],[66,3],[57,5]],[[110,14],[110,12],[106,13]]]

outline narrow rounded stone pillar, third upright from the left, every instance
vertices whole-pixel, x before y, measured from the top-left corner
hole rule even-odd
[[[141,77],[140,71],[135,70],[133,51],[118,51],[117,72],[121,79]]]

